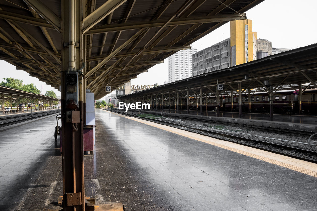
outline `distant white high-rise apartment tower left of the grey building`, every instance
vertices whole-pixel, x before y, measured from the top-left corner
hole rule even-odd
[[[181,50],[168,57],[168,82],[189,78],[192,76],[192,55],[197,48]]]

